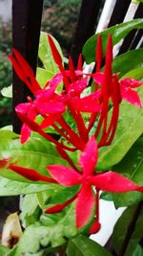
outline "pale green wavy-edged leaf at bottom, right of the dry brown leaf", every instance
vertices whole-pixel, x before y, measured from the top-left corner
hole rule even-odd
[[[18,244],[17,251],[19,255],[29,255],[29,253],[37,255],[36,253],[41,249],[65,244],[67,239],[75,235],[74,205],[72,204],[61,221],[50,226],[40,222],[28,226]]]

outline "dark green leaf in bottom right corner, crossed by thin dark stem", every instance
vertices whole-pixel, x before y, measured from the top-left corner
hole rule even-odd
[[[112,242],[113,247],[116,252],[119,252],[121,245],[125,239],[125,235],[128,229],[130,222],[133,220],[133,213],[135,210],[136,205],[129,207],[120,217],[120,219],[116,222],[113,233],[112,233]],[[136,245],[138,242],[143,238],[143,225],[142,225],[142,218],[143,218],[143,210],[141,210],[140,215],[136,221],[135,228],[133,231],[133,236],[131,238],[130,244],[127,247],[127,251],[125,256],[131,256]]]

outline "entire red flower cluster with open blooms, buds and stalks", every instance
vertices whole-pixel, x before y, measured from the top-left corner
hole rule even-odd
[[[73,198],[57,204],[46,213],[61,211],[64,207],[76,199],[76,226],[82,227],[90,221],[92,214],[95,220],[92,223],[91,233],[97,232],[99,224],[99,191],[112,193],[127,191],[142,191],[133,181],[112,171],[95,173],[94,169],[98,159],[98,148],[112,143],[117,127],[119,105],[122,99],[141,107],[140,99],[133,88],[141,85],[140,81],[124,79],[119,81],[118,74],[112,74],[112,36],[109,35],[104,72],[100,72],[102,55],[102,40],[99,35],[96,49],[96,70],[93,74],[86,74],[82,70],[82,58],[79,57],[76,70],[72,58],[69,59],[69,70],[63,67],[62,58],[59,55],[51,36],[49,35],[51,52],[54,61],[58,65],[59,73],[44,88],[41,88],[33,76],[31,67],[26,60],[14,49],[10,56],[12,65],[22,81],[30,88],[34,100],[28,97],[29,103],[16,106],[16,112],[23,121],[21,130],[21,142],[25,143],[31,130],[38,132],[56,146],[60,155],[68,161],[71,168],[61,165],[51,165],[48,171],[52,178],[39,175],[36,171],[10,164],[8,168],[19,175],[23,175],[32,181],[45,181],[60,183],[63,186],[81,185],[78,193]],[[84,95],[89,78],[94,81],[94,91]],[[58,84],[63,81],[64,90],[61,94],[56,92]],[[111,107],[109,116],[109,108]],[[69,111],[76,128],[71,128],[64,118],[65,111]],[[84,114],[88,113],[89,121],[85,121]],[[41,115],[43,121],[36,123],[36,116]],[[65,139],[66,143],[59,142],[45,132],[45,128],[55,128]],[[94,128],[95,127],[95,128]],[[92,132],[93,130],[93,132]],[[90,135],[92,132],[92,136]],[[96,142],[98,141],[98,143]],[[68,142],[68,143],[67,143]],[[69,146],[71,145],[71,146]],[[77,168],[67,151],[80,150],[81,156]],[[1,166],[5,160],[1,160]],[[7,161],[6,161],[7,163]],[[2,168],[2,167],[1,167]]]

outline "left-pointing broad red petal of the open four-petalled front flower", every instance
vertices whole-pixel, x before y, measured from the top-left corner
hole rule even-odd
[[[63,165],[49,165],[48,171],[59,184],[64,186],[80,184],[81,175],[69,167]]]

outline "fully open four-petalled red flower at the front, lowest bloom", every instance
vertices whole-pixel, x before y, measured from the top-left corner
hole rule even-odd
[[[85,225],[92,217],[92,210],[95,210],[94,192],[92,187],[95,187],[97,194],[99,190],[112,193],[121,193],[138,189],[138,186],[133,183],[133,181],[129,180],[123,175],[113,173],[112,171],[102,174],[94,173],[97,158],[97,144],[94,137],[92,137],[87,143],[85,150],[81,153],[79,159],[79,165],[83,171],[82,173],[78,173],[76,170],[62,165],[48,166],[51,176],[59,184],[63,186],[73,186],[77,184],[81,185],[80,191],[76,195],[77,199],[75,215],[77,228]],[[71,198],[71,201],[74,198]],[[60,205],[60,211],[69,203]],[[59,205],[55,205],[46,210],[46,213],[58,211]],[[96,215],[98,216],[97,213]]]

